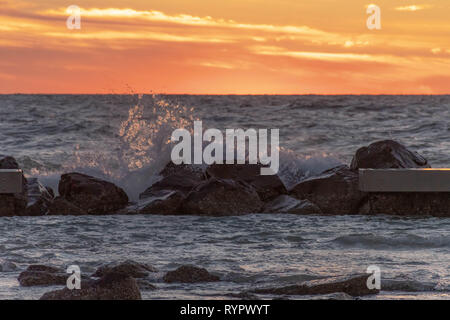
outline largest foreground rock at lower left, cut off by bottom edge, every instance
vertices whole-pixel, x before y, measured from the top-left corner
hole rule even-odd
[[[97,281],[81,283],[80,290],[61,290],[45,293],[40,300],[141,300],[136,280],[123,273],[107,273]]]

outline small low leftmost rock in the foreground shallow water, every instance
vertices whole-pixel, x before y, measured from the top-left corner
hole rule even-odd
[[[18,281],[23,287],[65,285],[68,276],[55,267],[31,265],[19,274]]]

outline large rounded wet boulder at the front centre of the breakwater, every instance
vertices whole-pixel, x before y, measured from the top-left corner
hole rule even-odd
[[[245,182],[212,178],[198,185],[183,202],[186,214],[230,216],[261,212],[264,203]]]

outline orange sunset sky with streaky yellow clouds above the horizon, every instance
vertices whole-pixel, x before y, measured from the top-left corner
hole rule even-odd
[[[450,1],[0,0],[0,93],[131,92],[450,94]]]

